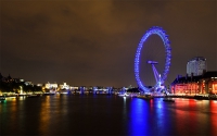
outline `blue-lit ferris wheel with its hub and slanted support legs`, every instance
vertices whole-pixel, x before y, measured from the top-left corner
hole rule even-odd
[[[136,52],[136,58],[135,58],[136,81],[137,81],[139,88],[142,89],[142,91],[144,91],[144,92],[150,91],[150,88],[146,87],[140,78],[140,63],[144,63],[144,62],[140,62],[141,50],[142,50],[143,44],[145,42],[145,40],[151,35],[159,36],[161,39],[163,40],[164,49],[165,49],[165,64],[164,64],[164,70],[162,71],[162,73],[158,73],[156,67],[155,67],[155,65],[158,62],[156,62],[154,60],[149,60],[149,61],[145,62],[148,64],[151,64],[151,66],[152,66],[154,77],[155,77],[155,85],[154,85],[155,90],[162,89],[164,87],[164,82],[167,78],[167,74],[169,72],[169,66],[170,66],[170,59],[171,59],[170,41],[169,41],[168,35],[166,35],[165,30],[162,27],[158,27],[158,26],[153,26],[149,30],[146,30],[146,33],[143,35],[143,37],[141,38],[141,40],[139,42],[139,46],[138,46],[137,52]]]

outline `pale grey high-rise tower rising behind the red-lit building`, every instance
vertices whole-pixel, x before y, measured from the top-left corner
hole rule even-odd
[[[188,61],[187,63],[187,74],[188,76],[199,76],[206,71],[206,59],[203,57],[195,57]]]

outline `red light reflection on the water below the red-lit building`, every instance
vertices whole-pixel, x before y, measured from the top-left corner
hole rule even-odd
[[[177,132],[181,135],[216,135],[217,104],[210,100],[184,99],[176,103]]]

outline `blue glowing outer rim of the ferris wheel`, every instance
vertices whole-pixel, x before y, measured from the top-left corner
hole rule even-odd
[[[171,59],[171,48],[170,48],[170,41],[168,39],[168,35],[166,35],[165,30],[162,27],[158,26],[153,26],[151,27],[149,30],[146,30],[146,33],[143,35],[143,37],[141,38],[139,46],[137,48],[137,52],[136,52],[136,58],[135,58],[135,76],[136,76],[136,81],[138,86],[143,90],[143,91],[149,91],[149,88],[146,88],[139,76],[139,61],[140,61],[140,52],[141,49],[143,47],[143,42],[151,36],[151,35],[158,35],[163,42],[164,42],[164,47],[165,47],[165,53],[166,53],[166,61],[165,61],[165,67],[164,67],[164,72],[162,74],[161,77],[161,84],[164,84],[165,79],[167,78],[167,74],[169,72],[169,65],[170,65],[170,59]],[[157,83],[154,87],[157,86]]]

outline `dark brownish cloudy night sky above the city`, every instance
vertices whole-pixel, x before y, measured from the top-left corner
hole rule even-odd
[[[217,71],[216,9],[216,0],[0,0],[0,73],[34,84],[137,86],[136,50],[152,26],[171,42],[166,83],[186,75],[193,57]]]

